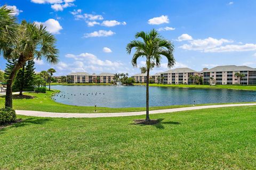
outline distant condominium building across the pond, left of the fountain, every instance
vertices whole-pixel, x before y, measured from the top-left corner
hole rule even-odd
[[[86,72],[70,73],[67,75],[68,83],[110,83],[113,80],[114,74],[100,73],[89,74]]]

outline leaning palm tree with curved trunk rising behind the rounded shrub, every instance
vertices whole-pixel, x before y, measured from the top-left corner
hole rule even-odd
[[[49,63],[57,64],[59,50],[55,47],[55,37],[46,31],[43,25],[22,21],[17,41],[12,47],[4,50],[4,57],[17,58],[18,62],[7,79],[5,107],[12,107],[12,84],[17,72],[30,60],[41,60],[42,57]]]

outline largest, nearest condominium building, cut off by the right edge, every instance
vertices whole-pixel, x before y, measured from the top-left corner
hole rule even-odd
[[[215,84],[245,84],[256,85],[256,69],[249,66],[223,65],[216,66],[212,69],[204,69],[201,71],[204,77],[204,84],[210,83],[210,78],[215,80]],[[245,77],[235,77],[235,73],[242,73]]]

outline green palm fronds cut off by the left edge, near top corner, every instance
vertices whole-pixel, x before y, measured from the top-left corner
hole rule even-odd
[[[6,5],[0,7],[0,53],[17,39],[19,29],[13,12]]]

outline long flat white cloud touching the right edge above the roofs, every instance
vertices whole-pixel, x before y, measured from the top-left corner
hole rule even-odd
[[[204,52],[247,52],[255,51],[256,44],[245,44],[245,45],[226,45],[211,49],[205,49]]]

